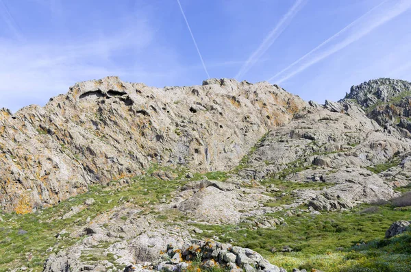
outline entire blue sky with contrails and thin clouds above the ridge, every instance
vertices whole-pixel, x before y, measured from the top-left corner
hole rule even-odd
[[[0,107],[107,75],[269,80],[321,103],[369,79],[411,80],[411,0],[179,1],[0,0]]]

